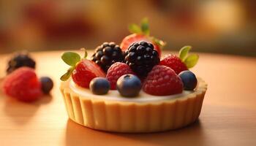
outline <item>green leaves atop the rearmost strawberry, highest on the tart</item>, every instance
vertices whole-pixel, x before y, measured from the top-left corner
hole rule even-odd
[[[132,34],[143,34],[147,36],[149,39],[152,40],[152,42],[154,42],[156,45],[159,45],[159,47],[161,48],[166,45],[166,42],[162,41],[161,39],[150,36],[148,18],[143,18],[140,22],[140,25],[137,25],[135,23],[129,24],[128,29],[129,32]]]

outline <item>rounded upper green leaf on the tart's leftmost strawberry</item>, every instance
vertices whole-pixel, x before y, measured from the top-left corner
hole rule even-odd
[[[61,55],[62,60],[69,66],[75,66],[80,61],[80,55],[78,53],[66,52]]]

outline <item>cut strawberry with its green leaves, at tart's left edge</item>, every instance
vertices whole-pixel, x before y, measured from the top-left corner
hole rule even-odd
[[[94,63],[86,59],[87,53],[83,59],[78,53],[67,52],[61,58],[70,66],[67,73],[61,76],[61,80],[65,81],[72,75],[72,80],[83,88],[89,88],[89,84],[95,77],[105,77],[102,69]]]

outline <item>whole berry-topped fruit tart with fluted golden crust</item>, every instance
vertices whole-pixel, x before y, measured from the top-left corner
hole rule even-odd
[[[69,118],[123,133],[167,131],[195,122],[207,89],[189,71],[198,55],[188,54],[191,47],[185,46],[178,56],[159,58],[155,45],[144,39],[127,48],[104,42],[91,58],[86,51],[83,58],[64,53],[61,58],[70,67],[60,89]]]

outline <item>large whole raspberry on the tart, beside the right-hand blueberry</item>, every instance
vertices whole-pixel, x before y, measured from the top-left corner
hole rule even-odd
[[[181,78],[167,66],[154,66],[143,83],[143,91],[155,96],[167,96],[183,91]]]

